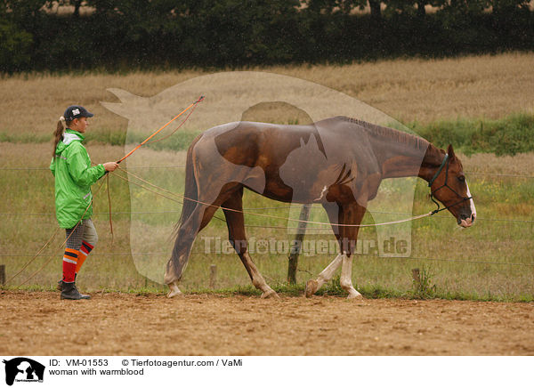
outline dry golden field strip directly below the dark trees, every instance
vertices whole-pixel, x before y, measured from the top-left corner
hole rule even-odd
[[[401,122],[425,124],[457,117],[499,118],[534,112],[533,68],[534,54],[506,53],[435,61],[411,59],[253,70],[312,81],[357,98]],[[93,128],[125,131],[126,119],[100,104],[118,101],[106,91],[108,88],[151,97],[207,74],[186,70],[4,77],[0,79],[0,132],[51,133],[63,109],[71,103],[83,104],[94,111],[97,117]],[[261,97],[261,93],[259,89],[250,92],[252,98]],[[203,115],[210,114],[217,112],[203,112]],[[257,112],[256,116],[288,121],[295,119],[295,111],[266,107],[263,115]]]

